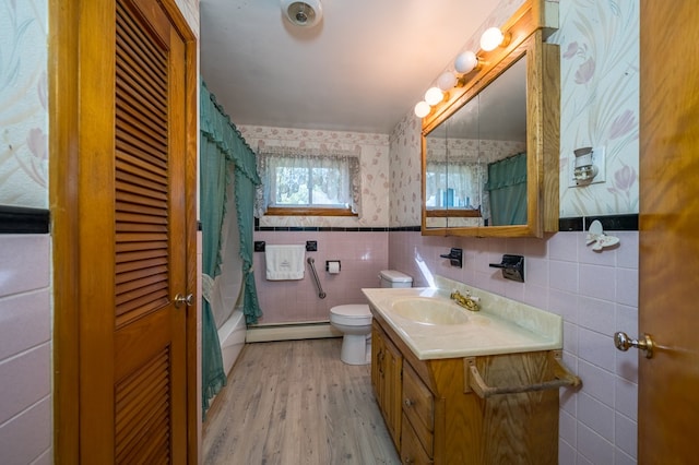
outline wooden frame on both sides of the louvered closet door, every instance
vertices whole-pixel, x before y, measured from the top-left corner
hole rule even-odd
[[[86,0],[94,1],[94,0]],[[198,312],[197,295],[197,148],[198,97],[197,36],[187,24],[175,0],[158,0],[186,46],[187,153],[185,193],[187,287],[194,305],[187,313],[187,455],[188,463],[199,458]],[[80,285],[76,264],[80,241],[78,180],[79,102],[81,97],[80,36],[81,2],[49,0],[49,204],[52,241],[54,315],[54,462],[80,463]]]

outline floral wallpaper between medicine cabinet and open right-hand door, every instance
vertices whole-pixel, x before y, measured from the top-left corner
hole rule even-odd
[[[638,213],[639,5],[560,3],[560,216]],[[572,151],[605,147],[606,182],[569,188]]]

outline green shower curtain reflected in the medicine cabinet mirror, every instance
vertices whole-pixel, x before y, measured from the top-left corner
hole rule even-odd
[[[488,164],[493,226],[526,224],[526,153]]]

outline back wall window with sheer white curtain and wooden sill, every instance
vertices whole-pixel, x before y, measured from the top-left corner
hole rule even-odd
[[[259,213],[266,215],[357,216],[359,157],[270,148],[259,155],[262,187]]]

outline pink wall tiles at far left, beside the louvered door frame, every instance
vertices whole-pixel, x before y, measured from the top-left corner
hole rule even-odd
[[[0,462],[48,464],[50,237],[0,235]]]

